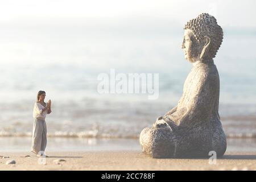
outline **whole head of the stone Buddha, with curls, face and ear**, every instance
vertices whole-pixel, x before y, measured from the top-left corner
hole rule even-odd
[[[216,19],[208,13],[200,14],[184,26],[181,48],[185,59],[191,63],[212,61],[221,46],[222,39],[223,31]]]

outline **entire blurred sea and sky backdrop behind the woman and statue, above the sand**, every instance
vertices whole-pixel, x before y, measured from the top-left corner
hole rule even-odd
[[[183,26],[224,31],[220,75],[228,151],[256,151],[256,12],[245,1],[0,1],[0,151],[30,151],[39,90],[52,100],[48,150],[141,150],[139,133],[177,104],[192,64]],[[100,73],[159,73],[159,98],[99,94]]]

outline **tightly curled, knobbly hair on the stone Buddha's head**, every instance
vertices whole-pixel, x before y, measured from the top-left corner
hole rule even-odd
[[[208,36],[211,41],[209,57],[215,57],[223,40],[222,28],[217,24],[214,16],[202,13],[197,18],[191,19],[185,24],[184,30],[189,29],[193,32],[196,40],[201,42],[204,36]]]

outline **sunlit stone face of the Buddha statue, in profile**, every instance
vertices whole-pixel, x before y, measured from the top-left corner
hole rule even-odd
[[[185,59],[194,63],[199,60],[201,54],[201,46],[197,42],[193,32],[189,29],[184,31],[183,43],[181,48],[184,51]]]

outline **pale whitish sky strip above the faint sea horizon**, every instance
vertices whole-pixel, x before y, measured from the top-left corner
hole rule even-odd
[[[151,16],[184,24],[200,13],[210,13],[222,26],[255,27],[255,5],[253,0],[0,0],[0,23],[33,18]]]

